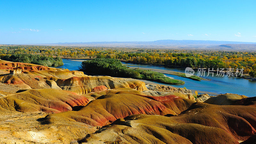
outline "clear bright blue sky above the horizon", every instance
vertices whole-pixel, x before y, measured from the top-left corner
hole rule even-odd
[[[0,0],[0,44],[256,42],[255,0]]]

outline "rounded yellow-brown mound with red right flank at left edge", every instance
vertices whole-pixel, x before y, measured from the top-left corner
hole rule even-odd
[[[0,99],[2,108],[20,112],[59,113],[75,106],[85,106],[89,100],[74,92],[55,89],[34,89]]]

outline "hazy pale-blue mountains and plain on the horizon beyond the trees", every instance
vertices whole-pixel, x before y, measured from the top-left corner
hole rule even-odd
[[[157,41],[131,41],[131,42],[75,42],[52,43],[37,45],[59,46],[90,46],[90,47],[126,47],[148,49],[207,49],[207,50],[237,50],[256,51],[256,43],[234,41],[204,41],[204,40],[157,40]]]

